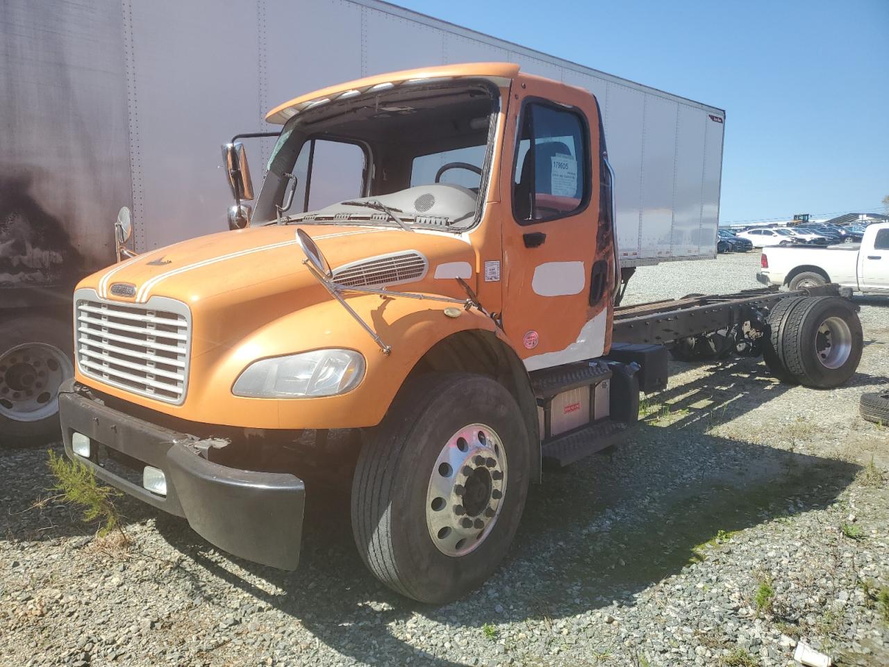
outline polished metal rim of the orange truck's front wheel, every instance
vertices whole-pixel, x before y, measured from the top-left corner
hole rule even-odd
[[[436,549],[465,556],[491,534],[506,494],[503,442],[485,424],[470,424],[438,454],[426,493],[426,526]]]

